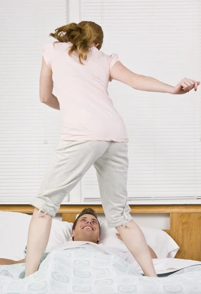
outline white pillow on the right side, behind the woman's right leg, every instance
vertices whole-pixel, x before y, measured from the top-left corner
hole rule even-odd
[[[147,244],[154,250],[158,258],[170,257],[174,258],[179,246],[177,243],[164,231],[155,228],[147,228],[140,226]],[[116,236],[115,228],[109,229],[106,221],[101,223],[101,240],[99,244],[105,246],[117,247],[128,250],[126,245]]]

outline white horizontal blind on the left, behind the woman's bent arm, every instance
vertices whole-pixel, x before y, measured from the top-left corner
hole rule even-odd
[[[39,76],[43,45],[68,9],[67,0],[1,4],[0,204],[22,204],[37,195],[62,127],[60,112],[39,100]]]

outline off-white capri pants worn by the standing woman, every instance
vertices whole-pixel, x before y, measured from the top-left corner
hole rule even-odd
[[[106,141],[60,140],[31,205],[54,217],[67,193],[94,166],[109,227],[133,220],[127,196],[128,145]]]

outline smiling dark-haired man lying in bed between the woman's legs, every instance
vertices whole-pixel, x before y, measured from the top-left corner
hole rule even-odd
[[[116,235],[121,240],[121,236],[119,234]],[[97,244],[100,241],[100,223],[97,219],[96,212],[92,208],[86,208],[79,214],[73,223],[71,236],[74,242],[69,241],[65,243],[63,246],[64,249],[72,247],[92,247],[107,254],[116,254],[127,261],[129,264],[132,264],[135,261],[133,255],[129,251],[125,252],[122,249],[106,247],[102,244]],[[56,248],[57,247],[54,249]],[[62,247],[59,246],[59,248]],[[156,253],[152,250],[152,248],[149,247],[149,250],[152,258],[157,258]],[[24,259],[14,261],[0,258],[0,265],[12,265],[24,262]]]

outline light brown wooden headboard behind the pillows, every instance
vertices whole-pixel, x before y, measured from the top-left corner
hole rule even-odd
[[[62,221],[73,222],[84,208],[92,207],[96,213],[104,213],[101,205],[61,205],[58,213]],[[164,230],[179,245],[176,258],[201,261],[201,205],[131,205],[131,213],[168,213],[170,229]],[[0,210],[33,213],[29,205],[0,205]]]

